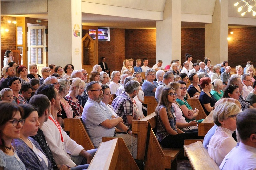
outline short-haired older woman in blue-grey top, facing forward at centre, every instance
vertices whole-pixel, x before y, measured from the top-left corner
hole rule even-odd
[[[158,83],[154,81],[156,78],[156,71],[154,69],[147,69],[145,76],[146,80],[142,84],[141,88],[145,96],[155,96],[156,87],[158,85]]]

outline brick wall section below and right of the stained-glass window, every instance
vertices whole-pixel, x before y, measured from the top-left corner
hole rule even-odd
[[[99,41],[98,56],[99,62],[101,57],[106,57],[110,71],[121,71],[125,59],[125,29],[110,28],[110,41]]]

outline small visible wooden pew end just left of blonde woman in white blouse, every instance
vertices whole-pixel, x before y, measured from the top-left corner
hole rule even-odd
[[[213,112],[209,113],[209,115],[202,121],[202,123],[198,123],[198,136],[205,136],[207,132],[214,126],[213,123]]]

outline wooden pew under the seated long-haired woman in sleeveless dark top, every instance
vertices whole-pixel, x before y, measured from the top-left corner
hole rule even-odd
[[[132,121],[132,133],[137,134],[138,136],[137,159],[140,160],[144,160],[148,122],[150,123],[151,128],[154,129],[156,127],[155,113],[147,115],[140,121]],[[179,155],[181,151],[182,148],[162,148],[155,133],[151,129],[145,169],[176,169],[177,155]]]

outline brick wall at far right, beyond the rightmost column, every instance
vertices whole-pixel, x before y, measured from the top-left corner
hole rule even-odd
[[[233,32],[233,34],[230,34]],[[256,28],[229,28],[228,65],[235,67],[246,66],[247,61],[256,65]]]

